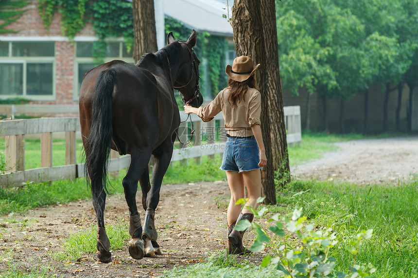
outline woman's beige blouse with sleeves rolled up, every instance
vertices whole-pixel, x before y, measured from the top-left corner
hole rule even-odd
[[[230,136],[246,137],[254,135],[251,127],[260,125],[261,96],[254,88],[248,88],[244,101],[236,107],[231,107],[228,101],[230,91],[228,88],[220,91],[208,106],[199,107],[197,115],[204,121],[209,122],[222,111],[225,119],[225,129]]]

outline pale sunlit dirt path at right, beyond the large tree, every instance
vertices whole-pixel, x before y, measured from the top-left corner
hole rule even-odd
[[[336,143],[340,150],[291,169],[299,179],[356,183],[398,183],[418,174],[418,137]]]

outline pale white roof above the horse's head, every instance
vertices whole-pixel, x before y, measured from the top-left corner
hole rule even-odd
[[[229,17],[231,3],[229,1]],[[164,0],[164,14],[171,16],[197,32],[232,36],[232,26],[222,15],[227,15],[226,0]]]

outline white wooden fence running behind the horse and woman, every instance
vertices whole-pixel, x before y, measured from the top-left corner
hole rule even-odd
[[[1,110],[0,110],[1,113]],[[187,115],[181,112],[181,118]],[[213,156],[223,153],[226,141],[224,120],[218,114],[213,121],[204,123],[192,114],[193,135],[192,144],[182,146],[175,144],[172,162],[195,158],[197,162],[205,155]],[[286,129],[288,144],[301,140],[300,109],[298,106],[285,107]],[[84,177],[84,164],[76,162],[76,132],[80,131],[78,117],[37,118],[24,120],[0,121],[0,137],[5,137],[6,172],[0,174],[0,185],[20,185],[22,182],[52,181]],[[65,132],[66,165],[52,167],[52,134]],[[25,169],[25,135],[40,133],[41,138],[41,167]],[[179,128],[182,142],[190,138],[190,121],[182,123]],[[202,144],[203,143],[203,144]],[[192,146],[192,147],[190,147]],[[130,156],[122,156],[111,152],[109,172],[119,171],[130,164]]]

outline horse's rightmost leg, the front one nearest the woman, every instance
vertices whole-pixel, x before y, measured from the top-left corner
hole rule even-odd
[[[170,165],[173,154],[173,145],[169,145],[162,150],[157,150],[154,153],[154,169],[151,180],[151,189],[147,194],[146,204],[147,210],[145,212],[144,229],[142,230],[142,240],[145,244],[145,256],[155,257],[161,254],[159,245],[157,243],[157,229],[155,228],[155,210],[159,202],[159,193],[161,189],[161,182]]]

